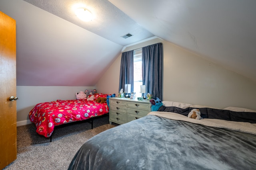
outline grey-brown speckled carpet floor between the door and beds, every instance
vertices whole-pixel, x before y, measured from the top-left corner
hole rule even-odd
[[[55,127],[52,142],[36,133],[34,124],[17,127],[17,159],[4,170],[66,170],[77,150],[91,137],[115,127],[109,116]]]

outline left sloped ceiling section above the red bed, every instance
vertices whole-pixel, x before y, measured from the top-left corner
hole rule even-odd
[[[22,0],[0,10],[16,20],[17,86],[94,86],[123,47]]]

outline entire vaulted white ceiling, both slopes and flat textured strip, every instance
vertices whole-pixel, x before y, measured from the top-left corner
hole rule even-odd
[[[79,20],[83,6],[94,19]],[[18,86],[94,86],[124,46],[160,37],[256,81],[255,0],[0,0]],[[127,39],[122,35],[132,34]]]

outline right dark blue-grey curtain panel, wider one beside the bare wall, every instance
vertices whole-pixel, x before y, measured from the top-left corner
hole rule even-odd
[[[152,94],[154,99],[163,100],[162,43],[142,47],[142,83],[146,85],[146,92]]]

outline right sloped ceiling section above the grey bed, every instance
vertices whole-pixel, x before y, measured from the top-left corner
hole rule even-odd
[[[157,37],[256,81],[255,0],[109,1]]]

